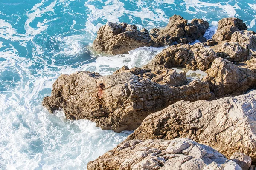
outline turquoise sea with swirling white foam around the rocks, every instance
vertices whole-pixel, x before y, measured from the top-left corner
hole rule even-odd
[[[0,0],[0,169],[86,169],[122,142],[131,132],[50,114],[42,99],[60,74],[112,74],[144,65],[163,49],[93,54],[90,45],[107,21],[151,29],[166,26],[173,14],[207,20],[207,38],[223,17],[239,17],[256,31],[255,0]]]

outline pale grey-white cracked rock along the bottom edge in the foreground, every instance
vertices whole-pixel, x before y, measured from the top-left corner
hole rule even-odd
[[[119,144],[87,170],[242,170],[209,146],[191,139],[130,140]]]

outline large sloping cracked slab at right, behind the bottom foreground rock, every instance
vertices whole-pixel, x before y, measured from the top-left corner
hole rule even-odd
[[[128,140],[186,137],[228,158],[235,152],[256,162],[256,90],[213,101],[180,101],[147,116]]]

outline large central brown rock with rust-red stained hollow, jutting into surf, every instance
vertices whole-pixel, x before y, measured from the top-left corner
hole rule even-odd
[[[88,119],[102,129],[121,132],[135,130],[146,116],[171,103],[211,96],[204,81],[180,86],[185,82],[184,73],[168,69],[157,73],[143,71],[123,68],[109,76],[90,72],[62,74],[43,105],[50,112],[62,108],[68,119]]]

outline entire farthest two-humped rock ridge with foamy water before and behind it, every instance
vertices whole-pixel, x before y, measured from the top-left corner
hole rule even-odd
[[[165,28],[154,28],[150,32],[145,28],[138,31],[135,25],[127,23],[108,22],[99,28],[97,38],[93,42],[93,48],[108,54],[124,54],[143,46],[160,47],[171,45],[178,40],[187,43],[203,37],[208,27],[207,21],[193,19],[188,24],[188,21],[179,15],[170,17]]]

